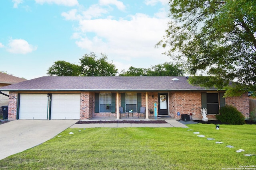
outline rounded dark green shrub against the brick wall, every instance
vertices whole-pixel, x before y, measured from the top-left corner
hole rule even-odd
[[[231,125],[243,125],[245,124],[244,115],[231,105],[220,107],[220,115],[216,115],[216,118],[222,123]]]

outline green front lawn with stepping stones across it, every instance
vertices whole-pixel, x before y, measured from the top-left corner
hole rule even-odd
[[[0,160],[1,169],[210,169],[255,165],[256,125],[67,129],[61,137]],[[81,132],[78,132],[81,130]],[[197,137],[193,132],[199,131]],[[69,135],[73,132],[73,135]],[[208,141],[206,138],[214,138]],[[224,144],[215,144],[216,141]],[[227,148],[232,145],[234,148]],[[236,150],[245,152],[237,153]]]

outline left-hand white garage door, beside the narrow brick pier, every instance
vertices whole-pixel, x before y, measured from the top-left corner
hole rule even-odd
[[[19,119],[47,119],[47,94],[20,94]]]

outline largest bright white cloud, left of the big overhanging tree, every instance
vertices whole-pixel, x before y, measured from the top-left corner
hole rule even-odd
[[[131,16],[131,20],[81,20],[80,31],[87,36],[78,39],[76,44],[82,49],[101,51],[126,61],[155,58],[163,52],[154,45],[164,35],[167,21],[167,18],[150,18],[145,14]],[[88,36],[90,33],[94,37]]]

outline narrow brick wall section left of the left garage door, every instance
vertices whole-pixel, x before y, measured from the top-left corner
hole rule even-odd
[[[9,93],[8,119],[16,120],[18,92]]]

